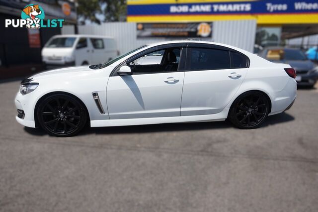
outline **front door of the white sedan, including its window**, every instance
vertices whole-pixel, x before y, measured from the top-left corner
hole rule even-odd
[[[184,72],[181,47],[156,49],[127,64],[132,76],[111,76],[107,85],[110,119],[180,116]]]

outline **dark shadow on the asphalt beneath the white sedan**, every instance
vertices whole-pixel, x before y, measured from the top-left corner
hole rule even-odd
[[[268,116],[262,127],[281,124],[294,120],[295,118],[286,113],[280,113],[273,116]],[[112,127],[86,127],[80,133],[81,135],[88,134],[129,134],[129,133],[151,133],[151,132],[169,132],[169,131],[188,131],[188,130],[206,130],[206,129],[225,129],[232,128],[229,121],[212,121],[212,122],[189,122],[189,123],[165,123],[165,124],[149,124],[135,126],[112,126]],[[24,130],[32,135],[43,136],[47,133],[41,128],[24,127]]]

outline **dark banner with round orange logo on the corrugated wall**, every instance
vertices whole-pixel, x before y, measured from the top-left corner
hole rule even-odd
[[[212,23],[137,23],[137,38],[211,37]]]

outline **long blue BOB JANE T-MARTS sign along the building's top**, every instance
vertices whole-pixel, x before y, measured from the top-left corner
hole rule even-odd
[[[151,2],[151,1],[150,1]],[[128,2],[129,3],[129,2]],[[128,4],[130,15],[318,13],[317,0],[260,0],[209,3]]]

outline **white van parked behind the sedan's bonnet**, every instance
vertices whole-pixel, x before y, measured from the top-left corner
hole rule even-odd
[[[42,49],[47,69],[103,64],[117,55],[114,38],[95,35],[56,35]]]

